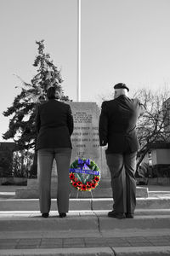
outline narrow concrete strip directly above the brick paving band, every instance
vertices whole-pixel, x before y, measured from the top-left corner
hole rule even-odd
[[[169,236],[169,229],[147,229],[147,230],[135,230],[135,229],[126,229],[126,230],[104,230],[102,232],[99,232],[99,230],[21,230],[21,231],[3,231],[0,232],[0,239],[6,239],[13,240],[13,239],[42,239],[42,238],[48,238],[48,239],[65,239],[65,238],[96,238],[103,237],[104,239],[107,238],[117,238],[117,237],[123,237],[123,238],[131,238],[133,236],[135,237],[162,237],[162,236]],[[166,244],[167,245],[167,244]],[[170,245],[170,242],[169,242]],[[154,245],[156,246],[156,245]],[[160,245],[161,246],[161,245]]]

